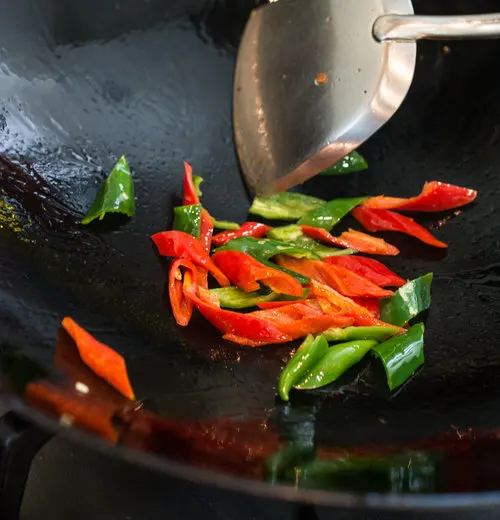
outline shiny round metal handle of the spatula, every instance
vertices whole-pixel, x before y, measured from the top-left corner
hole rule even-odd
[[[373,25],[380,42],[500,38],[500,13],[460,16],[387,14]]]

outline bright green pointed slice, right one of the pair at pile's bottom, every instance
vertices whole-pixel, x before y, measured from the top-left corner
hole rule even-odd
[[[358,340],[330,347],[323,358],[294,387],[298,390],[313,390],[333,383],[347,369],[361,361],[376,344],[374,340]]]

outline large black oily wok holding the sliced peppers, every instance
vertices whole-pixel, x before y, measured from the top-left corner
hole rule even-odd
[[[242,492],[356,507],[498,504],[499,42],[419,44],[405,105],[361,148],[369,170],[318,177],[301,188],[323,198],[408,196],[426,180],[479,190],[459,216],[424,220],[439,229],[447,253],[390,236],[402,251],[390,267],[407,278],[435,273],[426,363],[406,386],[390,395],[368,363],[339,385],[294,395],[285,406],[275,383],[290,346],[238,348],[199,317],[187,328],[175,325],[165,302],[165,264],[149,237],[171,225],[183,160],[204,177],[211,213],[246,218],[250,196],[233,147],[231,92],[236,47],[254,6],[4,0],[1,397],[24,418],[132,464]],[[477,12],[496,8],[474,2]],[[415,1],[421,14],[471,10],[466,1]],[[135,217],[80,227],[122,154],[135,178]],[[143,400],[143,410],[122,407],[115,417],[118,442],[25,400],[26,385],[43,375],[64,391],[68,378],[87,381],[102,406],[121,406],[106,385],[91,381],[58,334],[67,315],[124,355]],[[55,354],[64,377],[53,368]],[[315,443],[328,457],[417,450],[430,457],[431,483],[421,484],[420,475],[396,492],[361,471],[320,489],[271,485],[263,479],[264,459],[290,440]]]

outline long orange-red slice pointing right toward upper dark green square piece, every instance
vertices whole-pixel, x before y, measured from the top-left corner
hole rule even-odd
[[[392,291],[382,289],[366,278],[341,266],[304,258],[278,256],[276,262],[281,267],[300,273],[312,280],[324,283],[344,296],[362,298],[384,298]]]

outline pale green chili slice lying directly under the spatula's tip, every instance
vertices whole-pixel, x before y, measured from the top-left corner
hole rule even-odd
[[[284,191],[270,197],[255,197],[248,212],[273,220],[296,220],[325,202],[302,193]]]

